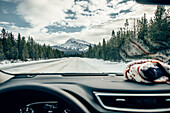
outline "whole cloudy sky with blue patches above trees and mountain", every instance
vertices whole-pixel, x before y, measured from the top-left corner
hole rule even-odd
[[[40,43],[61,44],[76,38],[97,44],[112,30],[129,29],[144,13],[150,19],[156,6],[133,0],[0,0],[0,29],[31,36]]]

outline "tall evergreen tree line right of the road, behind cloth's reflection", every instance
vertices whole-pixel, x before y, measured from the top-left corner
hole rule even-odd
[[[126,19],[124,27],[117,32],[112,31],[110,40],[103,39],[102,43],[99,42],[94,47],[90,46],[83,56],[111,61],[124,60],[120,55],[120,48],[122,45],[129,45],[129,39],[143,40],[152,53],[170,49],[170,17],[165,6],[157,6],[154,19],[148,21],[146,14],[141,19],[134,19],[133,29],[129,29],[129,22]],[[156,46],[152,42],[162,45]]]

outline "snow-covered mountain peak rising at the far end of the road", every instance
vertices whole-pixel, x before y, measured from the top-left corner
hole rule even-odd
[[[90,45],[93,46],[93,44],[84,40],[70,38],[64,44],[55,45],[53,46],[53,48],[58,49],[60,51],[64,51],[64,53],[66,54],[75,54],[86,52]]]

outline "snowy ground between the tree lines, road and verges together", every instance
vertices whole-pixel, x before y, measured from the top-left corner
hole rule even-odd
[[[10,73],[121,73],[125,66],[125,63],[70,57],[0,64],[0,69]]]

